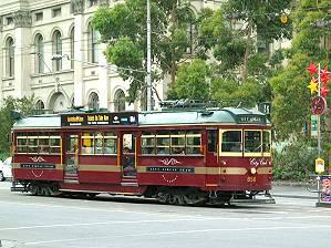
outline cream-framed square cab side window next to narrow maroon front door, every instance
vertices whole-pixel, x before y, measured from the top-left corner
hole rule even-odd
[[[241,131],[225,131],[221,135],[221,152],[239,153],[242,151]]]

